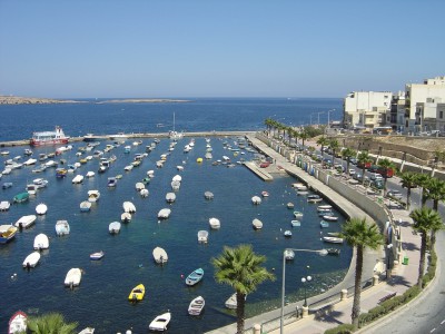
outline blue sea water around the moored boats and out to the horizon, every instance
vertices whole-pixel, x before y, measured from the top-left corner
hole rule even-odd
[[[340,99],[287,99],[287,98],[196,98],[187,102],[162,104],[108,104],[97,99],[85,99],[79,104],[62,105],[17,105],[0,106],[0,141],[30,138],[33,131],[52,130],[61,126],[72,137],[87,134],[111,135],[118,132],[168,132],[177,131],[229,131],[263,130],[265,119],[273,118],[286,125],[304,126],[318,121],[318,112],[336,109],[330,119],[340,119]],[[322,115],[323,116],[323,115]],[[320,119],[320,122],[327,122]],[[174,121],[175,119],[175,121]],[[195,140],[189,153],[184,147]],[[206,140],[207,139],[207,140]],[[211,259],[220,255],[224,247],[249,244],[254,252],[266,256],[265,267],[276,275],[274,282],[260,284],[248,295],[246,313],[254,316],[280,306],[283,282],[283,250],[287,247],[320,249],[326,247],[320,239],[328,232],[339,232],[345,217],[340,213],[337,223],[320,228],[320,217],[315,204],[308,204],[305,196],[298,196],[293,184],[298,180],[284,174],[274,174],[273,181],[264,181],[238,161],[254,160],[258,154],[231,150],[240,143],[238,137],[184,137],[174,149],[170,140],[161,138],[156,148],[148,153],[139,167],[131,171],[123,168],[131,164],[136,154],[147,151],[152,138],[141,143],[128,139],[115,147],[105,157],[115,155],[117,160],[103,174],[98,174],[99,159],[92,158],[65,178],[57,178],[55,168],[43,173],[32,173],[36,166],[23,166],[10,175],[3,175],[0,183],[12,183],[12,187],[0,189],[0,200],[12,200],[24,191],[34,178],[49,181],[29,202],[13,204],[8,212],[0,213],[1,224],[13,224],[21,216],[36,213],[36,206],[44,203],[48,213],[38,216],[36,224],[19,232],[13,240],[0,245],[0,332],[6,332],[10,316],[21,310],[31,316],[59,312],[67,322],[77,322],[78,330],[91,326],[95,333],[147,333],[149,323],[159,314],[171,312],[168,333],[204,333],[236,322],[234,311],[225,307],[225,301],[234,293],[227,285],[218,284],[214,277]],[[55,158],[65,164],[75,164],[95,150],[103,150],[111,140],[102,140],[91,151],[83,151],[85,141],[70,144],[71,150]],[[130,153],[125,153],[130,146]],[[212,159],[204,159],[211,149]],[[9,155],[0,156],[0,161],[23,156],[29,146],[1,147]],[[57,147],[32,148],[33,157],[49,154]],[[167,155],[162,168],[156,163]],[[212,164],[228,156],[234,165]],[[178,170],[182,166],[184,170]],[[60,167],[60,165],[59,165]],[[85,178],[82,184],[72,184],[72,178],[92,170],[96,176]],[[142,198],[136,190],[148,170],[155,177],[147,185],[149,196]],[[121,175],[116,188],[107,187],[109,177]],[[181,176],[180,189],[172,204],[166,202],[171,190],[170,183],[176,175]],[[79,205],[87,199],[90,189],[99,189],[100,199],[91,210],[81,213]],[[211,200],[204,193],[211,191]],[[251,203],[253,196],[263,197],[260,205]],[[118,235],[110,235],[108,225],[120,220],[122,203],[131,202],[137,212],[130,223],[122,224]],[[300,227],[291,227],[293,210],[287,203],[295,204],[295,210],[304,213]],[[323,202],[322,204],[327,204]],[[158,220],[157,214],[170,208],[166,220]],[[209,218],[220,220],[220,229],[209,227]],[[261,230],[255,230],[251,222],[263,222]],[[58,237],[57,220],[68,220],[71,232]],[[209,232],[207,244],[199,244],[197,233]],[[291,237],[284,237],[290,229]],[[22,268],[27,255],[33,252],[33,239],[44,233],[50,238],[49,249],[42,252],[40,263],[31,269]],[[152,249],[162,247],[168,253],[168,263],[157,265]],[[296,253],[286,264],[286,303],[300,301],[305,288],[308,296],[323,293],[339,283],[347,272],[352,248],[347,245],[329,245],[340,248],[339,256],[318,256],[314,253]],[[89,254],[103,250],[101,261],[90,261]],[[82,271],[79,287],[65,287],[63,281],[70,268]],[[185,278],[196,268],[204,269],[204,278],[189,287]],[[310,275],[310,283],[303,286],[301,277]],[[138,284],[146,286],[144,301],[130,303],[130,291]],[[188,315],[191,299],[202,296],[206,301],[204,313]]]

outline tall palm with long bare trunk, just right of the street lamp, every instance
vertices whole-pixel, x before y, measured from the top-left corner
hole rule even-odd
[[[383,236],[378,230],[377,225],[367,224],[366,218],[352,218],[347,220],[342,227],[340,235],[346,239],[348,245],[355,247],[357,252],[352,320],[354,328],[358,328],[358,316],[360,315],[363,253],[366,247],[377,249],[383,245]]]

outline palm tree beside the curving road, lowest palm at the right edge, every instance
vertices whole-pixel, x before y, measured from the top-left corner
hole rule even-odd
[[[422,207],[422,209],[415,209],[409,214],[413,218],[413,228],[422,234],[421,245],[421,261],[418,263],[418,279],[417,286],[422,288],[423,276],[425,271],[425,254],[426,254],[426,238],[428,233],[437,232],[443,228],[442,218],[439,214],[429,207]]]

